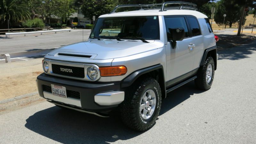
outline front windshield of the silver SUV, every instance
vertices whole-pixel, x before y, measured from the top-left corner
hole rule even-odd
[[[159,39],[158,16],[99,18],[90,38]]]

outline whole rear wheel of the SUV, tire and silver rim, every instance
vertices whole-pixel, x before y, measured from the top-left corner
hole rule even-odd
[[[209,90],[211,88],[214,78],[214,69],[214,60],[212,57],[208,57],[204,65],[201,66],[197,72],[195,84],[198,89]]]

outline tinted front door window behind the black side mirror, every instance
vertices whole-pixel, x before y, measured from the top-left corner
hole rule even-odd
[[[165,21],[166,32],[168,35],[167,37],[169,37],[169,35],[171,36],[170,30],[172,28],[184,28],[184,31],[185,31],[184,37],[188,37],[188,27],[184,17],[170,17],[170,18],[164,17],[164,21]],[[170,40],[169,38],[168,38],[168,41]]]

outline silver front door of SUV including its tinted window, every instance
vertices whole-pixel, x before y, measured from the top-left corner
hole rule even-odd
[[[185,16],[164,16],[167,35],[171,28],[184,28],[185,38],[177,41],[176,47],[172,47],[168,39],[166,48],[166,81],[173,80],[179,76],[192,73],[195,59],[194,40],[189,37],[188,21]]]

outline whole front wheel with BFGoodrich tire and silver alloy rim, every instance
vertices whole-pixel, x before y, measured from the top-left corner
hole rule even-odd
[[[125,91],[121,104],[124,124],[137,131],[146,131],[156,123],[161,107],[161,89],[154,78],[135,82]]]

